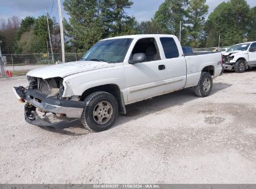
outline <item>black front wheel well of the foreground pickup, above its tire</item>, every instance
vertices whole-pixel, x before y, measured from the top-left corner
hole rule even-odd
[[[100,85],[100,86],[95,86],[93,88],[89,88],[88,90],[83,92],[83,94],[81,96],[81,100],[84,100],[88,96],[88,94],[91,94],[96,91],[105,91],[107,93],[112,94],[118,101],[119,112],[122,114],[126,113],[123,94],[121,93],[118,85],[108,84],[108,85]]]

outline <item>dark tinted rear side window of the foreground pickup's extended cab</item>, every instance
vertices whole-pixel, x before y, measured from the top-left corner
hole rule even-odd
[[[160,41],[166,58],[179,57],[179,50],[173,37],[160,37]]]

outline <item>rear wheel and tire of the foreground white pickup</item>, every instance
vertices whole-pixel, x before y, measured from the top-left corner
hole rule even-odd
[[[202,72],[199,83],[194,88],[196,96],[206,97],[212,91],[212,75],[209,72]]]

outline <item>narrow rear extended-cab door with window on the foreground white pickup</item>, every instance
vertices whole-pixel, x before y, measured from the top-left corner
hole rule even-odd
[[[163,65],[166,67],[166,93],[180,90],[186,85],[187,65],[182,50],[176,45],[178,39],[173,37],[160,37],[163,48]]]

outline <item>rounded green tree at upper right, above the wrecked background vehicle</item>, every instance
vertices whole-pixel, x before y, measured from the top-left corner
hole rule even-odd
[[[233,45],[243,42],[247,35],[250,7],[245,0],[222,2],[206,22],[207,46]]]

